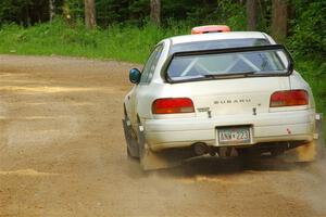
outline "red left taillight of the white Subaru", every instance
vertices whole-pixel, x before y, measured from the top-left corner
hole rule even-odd
[[[193,112],[193,103],[189,98],[158,99],[152,104],[153,114],[176,114]]]

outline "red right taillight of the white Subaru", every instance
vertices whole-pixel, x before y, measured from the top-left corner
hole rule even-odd
[[[305,90],[277,91],[271,95],[271,107],[306,105],[309,94]]]

